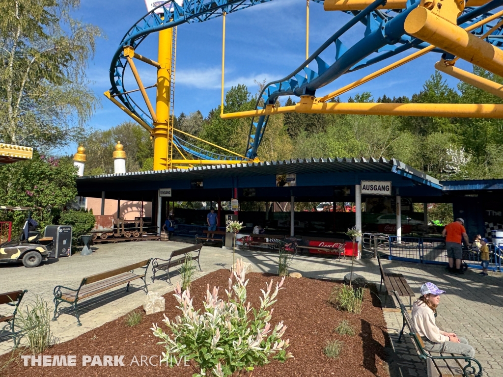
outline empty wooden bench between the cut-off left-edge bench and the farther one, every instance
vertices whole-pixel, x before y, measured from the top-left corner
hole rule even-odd
[[[108,291],[111,288],[121,286],[127,283],[126,292],[129,291],[129,284],[131,281],[136,279],[142,279],[144,284],[145,294],[148,293],[147,289],[147,269],[150,264],[150,259],[145,259],[141,262],[129,264],[124,267],[115,268],[109,271],[100,272],[94,275],[84,277],[80,282],[80,286],[77,289],[72,289],[63,286],[54,287],[54,317],[53,321],[56,321],[56,314],[58,310],[58,305],[62,302],[68,303],[75,309],[75,314],[77,317],[77,326],[82,326],[80,323],[80,318],[77,309],[77,303],[90,296],[97,295],[104,291]],[[133,273],[136,268],[143,268],[145,272],[141,275]],[[59,317],[59,316],[58,316]]]

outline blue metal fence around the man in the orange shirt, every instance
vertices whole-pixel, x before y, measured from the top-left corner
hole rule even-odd
[[[490,245],[489,270],[503,272],[501,269],[501,256],[503,245]],[[448,264],[445,240],[441,238],[420,238],[389,236],[389,259],[403,260],[406,262]],[[480,253],[472,250],[463,250],[463,260],[468,267],[481,269]]]

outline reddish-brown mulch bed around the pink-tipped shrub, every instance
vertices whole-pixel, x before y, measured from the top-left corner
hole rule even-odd
[[[202,307],[202,300],[206,293],[206,285],[221,287],[220,297],[225,298],[223,289],[227,287],[229,271],[220,269],[209,273],[192,283],[191,296],[194,306]],[[255,307],[260,305],[260,290],[265,288],[271,278],[279,281],[279,277],[265,273],[249,273],[247,298]],[[379,307],[379,300],[365,290],[364,307],[361,314],[348,314],[338,311],[327,303],[327,298],[338,283],[327,280],[316,280],[302,277],[300,279],[288,277],[278,294],[278,302],[274,304],[271,325],[280,320],[288,326],[284,339],[289,338],[291,346],[287,351],[292,352],[294,358],[285,363],[273,360],[271,363],[258,367],[254,377],[271,376],[389,376],[385,346],[389,344],[386,323]],[[176,300],[172,293],[166,294],[166,311],[168,318],[175,318],[180,311],[176,309]],[[136,311],[142,312],[142,308]],[[0,374],[9,377],[18,376],[58,376],[58,377],[88,377],[88,376],[177,376],[191,377],[193,370],[189,366],[175,366],[173,368],[163,364],[151,366],[148,360],[141,363],[141,356],[160,355],[164,350],[157,345],[157,338],[152,335],[152,322],[166,327],[162,313],[143,316],[139,325],[128,327],[125,317],[106,323],[75,339],[56,344],[44,352],[45,355],[76,355],[76,366],[24,366],[22,360],[11,363],[7,370]],[[342,320],[348,320],[356,330],[355,336],[341,336],[332,330]],[[166,330],[167,331],[167,330]],[[327,358],[323,354],[323,347],[327,340],[338,339],[345,343],[338,359]],[[82,366],[82,355],[124,355],[122,361],[125,366]],[[0,365],[8,359],[8,355],[0,357]],[[136,356],[137,363],[134,362]],[[146,360],[144,358],[144,360]],[[133,361],[133,362],[132,362]],[[132,362],[132,363],[131,363]],[[156,364],[157,357],[151,358]],[[30,362],[28,362],[30,365]]]

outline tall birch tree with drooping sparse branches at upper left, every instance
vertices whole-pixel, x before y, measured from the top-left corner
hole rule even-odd
[[[37,147],[85,132],[98,99],[87,86],[99,28],[71,18],[79,0],[0,0],[0,135]]]

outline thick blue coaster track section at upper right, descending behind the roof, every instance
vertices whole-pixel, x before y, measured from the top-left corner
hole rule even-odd
[[[267,105],[274,105],[280,96],[314,96],[317,89],[345,73],[375,64],[410,48],[423,49],[429,46],[428,43],[406,35],[403,28],[405,18],[419,5],[419,0],[408,0],[407,7],[403,10],[389,10],[387,12],[377,10],[385,2],[386,0],[376,0],[361,12],[351,12],[354,15],[353,19],[328,38],[295,71],[280,80],[265,85],[257,100],[256,110],[264,109]],[[503,5],[503,0],[493,0],[482,7],[467,7],[458,18],[458,25],[466,28],[479,22],[491,16],[490,11],[501,5]],[[364,36],[353,46],[347,47],[339,38],[358,22],[366,25]],[[497,22],[499,19],[479,27],[472,33],[482,35]],[[486,38],[486,41],[501,48],[503,46],[503,27],[494,30]],[[320,58],[320,54],[332,46],[335,47],[335,59],[332,64],[328,64]],[[440,49],[433,51],[444,52]],[[377,56],[370,57],[372,54],[377,54]],[[313,61],[316,61],[317,67],[307,67]],[[257,150],[266,131],[268,120],[268,115],[251,120],[245,151],[246,157],[257,157]]]

